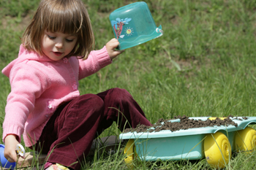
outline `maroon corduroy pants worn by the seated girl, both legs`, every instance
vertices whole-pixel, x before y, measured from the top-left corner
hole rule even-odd
[[[48,162],[80,169],[95,137],[113,121],[121,131],[138,124],[151,125],[127,90],[113,88],[61,105],[45,125],[34,149],[48,153]]]

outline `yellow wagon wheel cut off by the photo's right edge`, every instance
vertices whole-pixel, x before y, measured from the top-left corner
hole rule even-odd
[[[244,130],[236,131],[236,150],[252,151],[256,146],[256,131],[246,127]]]

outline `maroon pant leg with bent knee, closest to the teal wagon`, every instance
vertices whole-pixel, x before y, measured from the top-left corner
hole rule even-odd
[[[120,131],[124,131],[125,128],[136,128],[138,124],[151,125],[143,110],[127,90],[112,88],[98,93],[97,96],[102,98],[105,107],[97,130],[98,134],[110,127],[113,121],[118,124]]]

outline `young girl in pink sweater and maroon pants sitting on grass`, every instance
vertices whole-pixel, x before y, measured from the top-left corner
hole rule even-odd
[[[4,156],[17,160],[26,147],[48,153],[45,169],[80,169],[95,137],[115,121],[118,128],[151,125],[127,90],[80,96],[78,80],[112,62],[117,39],[101,50],[80,0],[42,0],[22,37],[18,58],[2,72],[10,78],[3,123]],[[118,120],[120,120],[118,122]]]

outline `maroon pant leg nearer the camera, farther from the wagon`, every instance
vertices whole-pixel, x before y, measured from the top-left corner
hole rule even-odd
[[[80,169],[80,161],[91,148],[103,111],[104,103],[97,95],[73,99],[50,118],[51,123],[45,126],[36,147],[40,143],[42,151],[48,151],[48,162]]]

